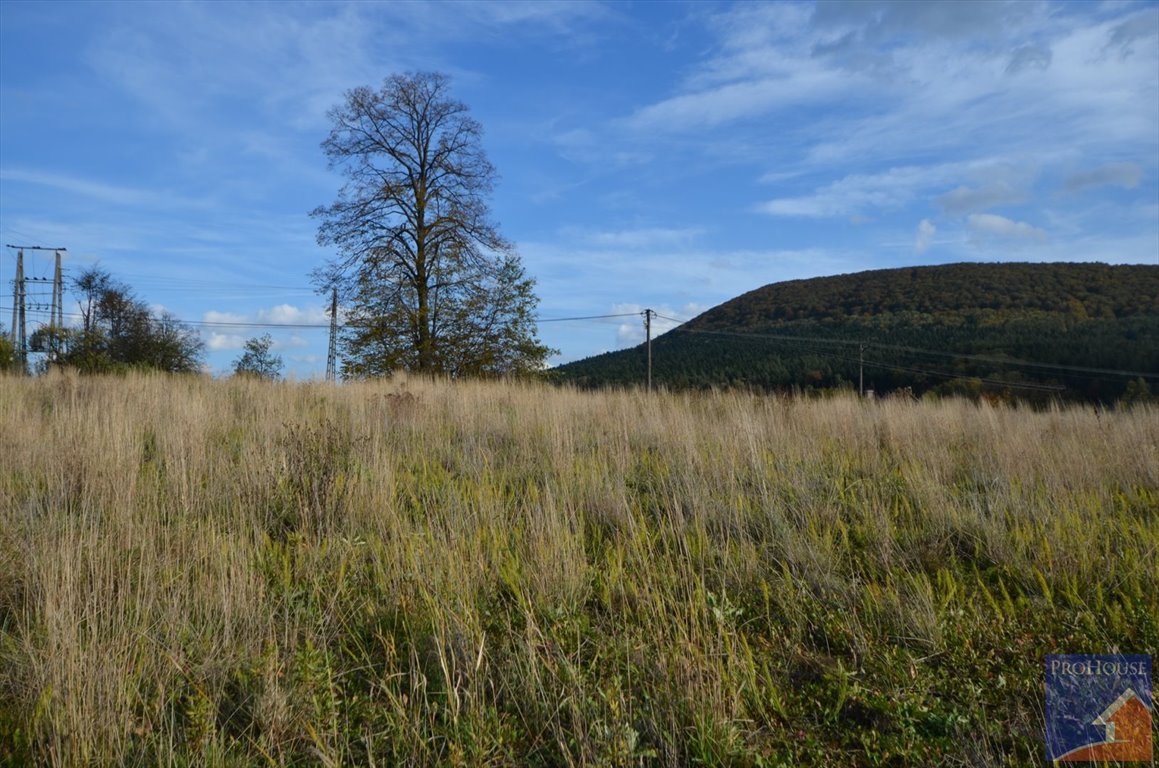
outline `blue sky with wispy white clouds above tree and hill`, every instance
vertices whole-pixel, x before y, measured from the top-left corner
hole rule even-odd
[[[196,323],[214,373],[269,332],[320,378],[327,111],[416,71],[483,126],[552,364],[780,280],[1159,263],[1154,2],[5,0],[0,240]],[[591,315],[625,316],[551,322]]]

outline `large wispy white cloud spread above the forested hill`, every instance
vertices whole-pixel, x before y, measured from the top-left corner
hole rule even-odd
[[[637,109],[628,123],[648,139],[713,127],[706,153],[742,144],[739,133],[771,148],[770,166],[834,175],[914,158],[1021,162],[1077,147],[1099,156],[1124,145],[1153,147],[1159,134],[1153,8],[1062,14],[1011,2],[979,14],[969,3],[773,5],[713,16],[717,45],[680,92]],[[1108,56],[1108,45],[1131,53]],[[819,116],[807,131],[790,112],[775,114],[802,104],[816,104]],[[831,118],[837,110],[839,119]],[[761,144],[756,122],[748,133],[730,125],[755,117],[767,119],[777,141]],[[985,186],[983,180],[968,189]],[[767,212],[834,215],[826,203],[787,197]]]

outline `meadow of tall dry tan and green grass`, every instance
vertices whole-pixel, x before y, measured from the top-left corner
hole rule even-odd
[[[1042,765],[1159,409],[0,378],[0,763]]]

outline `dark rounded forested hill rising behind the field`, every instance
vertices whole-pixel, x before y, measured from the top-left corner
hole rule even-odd
[[[653,339],[653,380],[669,388],[857,387],[860,360],[877,393],[1109,402],[1159,392],[1159,266],[947,264],[790,280]],[[644,348],[555,375],[639,385]]]

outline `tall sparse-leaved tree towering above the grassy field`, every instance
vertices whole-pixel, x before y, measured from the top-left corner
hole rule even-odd
[[[338,255],[314,275],[345,316],[343,374],[538,370],[534,280],[490,219],[482,127],[443,74],[387,78],[330,110],[322,149],[345,184],[315,209]]]

